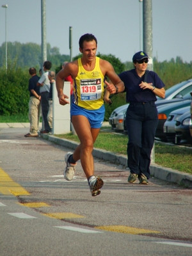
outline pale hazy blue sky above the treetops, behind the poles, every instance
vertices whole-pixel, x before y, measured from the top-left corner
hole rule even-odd
[[[41,0],[0,0],[0,4],[8,4],[7,9],[0,8],[0,45],[5,41],[5,23],[7,42],[41,44]],[[46,0],[45,4],[46,40],[61,54],[70,55],[69,27],[72,56],[79,54],[79,38],[85,33],[97,38],[97,52],[113,54],[122,62],[132,61],[134,53],[143,50],[139,0]],[[152,0],[152,57],[192,61],[191,13],[192,0]]]

